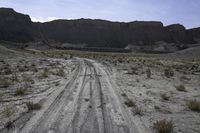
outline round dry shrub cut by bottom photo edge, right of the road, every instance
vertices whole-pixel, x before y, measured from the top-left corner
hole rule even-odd
[[[157,133],[171,133],[174,129],[174,124],[172,121],[167,121],[163,119],[153,123],[153,129]]]

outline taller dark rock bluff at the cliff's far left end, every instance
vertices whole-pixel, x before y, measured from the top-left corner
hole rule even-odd
[[[28,15],[16,13],[13,9],[0,8],[0,40],[33,41],[33,25]]]

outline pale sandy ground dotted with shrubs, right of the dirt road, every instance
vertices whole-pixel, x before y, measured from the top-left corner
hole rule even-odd
[[[125,99],[131,99],[142,110],[135,114],[146,127],[152,128],[155,121],[173,121],[176,133],[199,133],[200,113],[191,111],[187,101],[200,101],[200,67],[192,70],[195,61],[173,59],[135,59],[129,63],[115,65],[116,81]],[[179,66],[180,65],[180,66]],[[187,65],[188,69],[183,69]],[[174,76],[167,78],[164,69],[171,66]],[[176,68],[177,66],[177,68]],[[146,70],[151,70],[147,77]],[[183,69],[183,71],[182,71]],[[183,85],[186,91],[178,91],[175,86]],[[162,95],[168,97],[167,100]],[[124,96],[125,95],[125,96]]]

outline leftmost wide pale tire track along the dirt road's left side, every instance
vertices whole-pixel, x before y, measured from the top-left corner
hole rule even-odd
[[[48,107],[48,109],[43,113],[43,116],[35,122],[35,124],[27,125],[27,127],[23,128],[19,132],[21,133],[41,133],[41,132],[47,132],[49,130],[49,127],[53,123],[54,120],[56,120],[56,117],[60,113],[60,110],[62,110],[64,104],[65,104],[65,98],[70,98],[70,94],[74,91],[72,90],[73,85],[77,81],[77,79],[81,75],[81,71],[84,69],[84,65],[82,62],[79,62],[79,65],[77,67],[77,70],[70,80],[70,82],[66,85],[65,89],[62,90],[59,95],[56,97],[56,99],[53,101],[53,103]]]

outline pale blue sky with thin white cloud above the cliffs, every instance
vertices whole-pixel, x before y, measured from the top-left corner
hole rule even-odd
[[[91,18],[200,27],[200,0],[0,0],[0,7],[28,14],[34,22]]]

